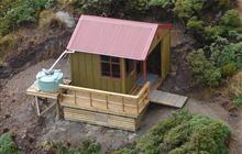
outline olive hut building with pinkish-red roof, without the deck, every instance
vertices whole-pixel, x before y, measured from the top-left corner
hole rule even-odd
[[[72,84],[135,94],[160,85],[169,69],[170,24],[81,15],[68,43]]]

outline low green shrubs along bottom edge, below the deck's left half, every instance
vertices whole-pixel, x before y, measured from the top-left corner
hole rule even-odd
[[[45,142],[43,150],[55,154],[100,154],[101,145],[92,140],[86,140],[77,147],[70,147],[62,142]]]

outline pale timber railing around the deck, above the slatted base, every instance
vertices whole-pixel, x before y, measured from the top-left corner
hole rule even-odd
[[[61,105],[105,113],[138,117],[148,105],[150,84],[146,82],[136,96],[109,92],[69,85],[59,85]]]

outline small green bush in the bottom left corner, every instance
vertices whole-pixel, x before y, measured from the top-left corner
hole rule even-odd
[[[0,154],[19,154],[10,133],[0,135]]]

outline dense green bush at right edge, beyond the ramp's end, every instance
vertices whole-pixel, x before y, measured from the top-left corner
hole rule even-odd
[[[191,52],[187,59],[197,84],[216,87],[242,69],[242,43],[218,36],[211,45]]]

